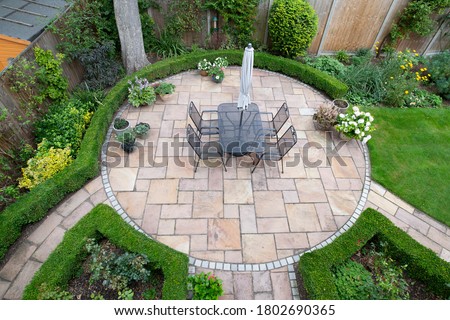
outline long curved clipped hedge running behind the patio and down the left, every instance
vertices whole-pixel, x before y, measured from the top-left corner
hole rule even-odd
[[[9,247],[20,237],[22,228],[41,220],[67,194],[79,190],[89,180],[99,174],[99,158],[102,143],[113,119],[114,113],[125,101],[128,81],[146,77],[150,82],[168,76],[196,69],[201,59],[214,60],[227,57],[231,65],[242,63],[243,51],[197,51],[191,54],[166,59],[139,70],[118,82],[105,97],[103,104],[92,117],[91,124],[81,143],[77,159],[63,171],[33,188],[17,202],[0,213],[0,260]],[[266,53],[256,53],[255,67],[284,73],[319,90],[331,98],[342,97],[347,86],[337,79],[294,60],[276,57]]]

